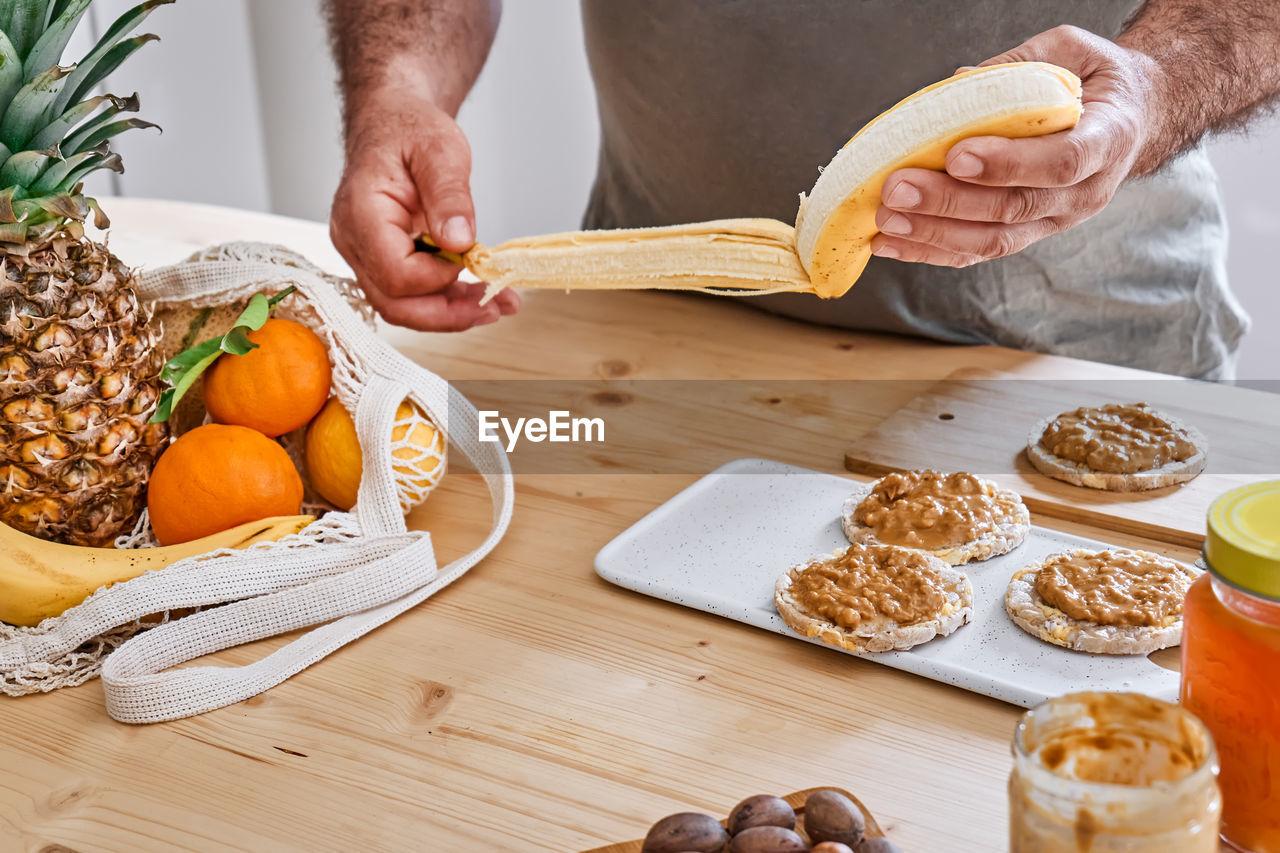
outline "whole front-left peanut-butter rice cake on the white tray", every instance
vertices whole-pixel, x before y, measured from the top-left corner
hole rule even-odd
[[[851,544],[792,566],[773,602],[805,637],[851,652],[887,652],[946,637],[973,615],[973,584],[923,551]]]

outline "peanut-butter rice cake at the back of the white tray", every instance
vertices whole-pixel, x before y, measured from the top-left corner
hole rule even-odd
[[[973,474],[927,469],[856,484],[841,521],[850,542],[915,548],[952,566],[1009,553],[1032,526],[1016,492]]]

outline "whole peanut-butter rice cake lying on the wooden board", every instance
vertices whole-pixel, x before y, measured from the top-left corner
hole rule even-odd
[[[1041,420],[1027,459],[1046,476],[1108,492],[1144,492],[1204,470],[1204,435],[1147,403],[1082,406]]]

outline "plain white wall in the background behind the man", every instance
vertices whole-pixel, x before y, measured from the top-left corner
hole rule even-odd
[[[101,26],[134,0],[101,0]],[[507,0],[489,63],[460,123],[486,242],[577,227],[599,133],[577,0]],[[164,136],[119,150],[131,196],[206,201],[323,220],[342,169],[334,72],[320,0],[182,0],[159,9],[164,37],[113,78],[142,92]],[[1233,286],[1253,315],[1240,377],[1280,379],[1280,122],[1220,140]]]

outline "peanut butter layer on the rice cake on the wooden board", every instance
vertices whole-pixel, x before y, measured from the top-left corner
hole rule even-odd
[[[1055,456],[1103,474],[1135,474],[1196,455],[1185,429],[1147,403],[1082,407],[1059,415],[1041,444]]]

